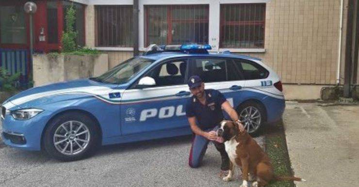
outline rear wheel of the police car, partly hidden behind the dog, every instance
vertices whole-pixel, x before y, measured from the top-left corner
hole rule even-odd
[[[264,109],[256,102],[245,102],[237,109],[238,116],[245,130],[251,135],[257,135],[264,123]]]

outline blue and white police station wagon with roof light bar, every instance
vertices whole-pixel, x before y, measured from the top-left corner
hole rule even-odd
[[[191,134],[185,103],[192,75],[225,95],[248,132],[279,120],[285,101],[277,74],[260,59],[210,49],[151,45],[99,77],[16,94],[1,105],[2,140],[77,160],[99,145]]]

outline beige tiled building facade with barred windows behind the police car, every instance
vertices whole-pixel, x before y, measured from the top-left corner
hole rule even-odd
[[[133,56],[133,0],[74,1],[84,8],[85,46],[108,53],[110,68]],[[293,98],[319,98],[322,87],[343,84],[348,0],[138,0],[138,4],[140,51],[149,44],[208,43],[214,52],[259,57],[281,77],[288,98],[299,92]],[[62,11],[57,11],[61,17]]]

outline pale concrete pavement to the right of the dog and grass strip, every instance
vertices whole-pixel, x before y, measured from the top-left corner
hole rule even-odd
[[[358,105],[287,102],[283,119],[297,187],[358,186]]]

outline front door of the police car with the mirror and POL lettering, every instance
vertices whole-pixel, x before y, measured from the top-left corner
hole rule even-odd
[[[154,78],[156,85],[125,90],[121,105],[123,135],[189,128],[185,103],[190,97],[187,78],[188,59],[180,58],[159,63],[143,77]]]

